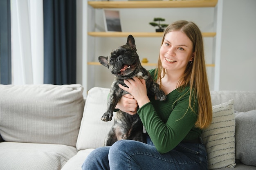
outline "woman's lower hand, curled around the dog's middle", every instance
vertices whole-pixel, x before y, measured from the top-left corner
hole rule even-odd
[[[135,115],[137,113],[138,104],[132,95],[126,94],[121,97],[116,108],[130,115]]]

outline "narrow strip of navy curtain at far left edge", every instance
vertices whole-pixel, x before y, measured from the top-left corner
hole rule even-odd
[[[0,0],[0,83],[11,84],[10,0]]]

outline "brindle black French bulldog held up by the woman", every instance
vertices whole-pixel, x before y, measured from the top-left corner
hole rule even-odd
[[[123,95],[128,94],[127,91],[122,90],[118,86],[118,84],[126,86],[124,79],[131,79],[135,76],[145,79],[148,95],[155,95],[156,99],[161,101],[166,99],[166,95],[159,88],[159,85],[154,82],[150,73],[141,66],[136,51],[135,40],[132,35],[129,35],[125,45],[113,50],[108,57],[99,56],[98,58],[99,62],[110,69],[111,73],[115,75],[114,82],[110,88],[108,108],[101,117],[103,121],[110,121],[112,119],[113,111],[119,99]],[[117,111],[114,124],[104,141],[104,146],[112,146],[117,140],[121,139],[132,139],[146,143],[143,124],[137,114],[129,115],[121,110]]]

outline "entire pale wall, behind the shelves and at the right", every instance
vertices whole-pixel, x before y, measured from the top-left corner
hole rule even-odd
[[[219,90],[255,91],[256,76],[254,73],[256,73],[256,67],[253,66],[256,63],[256,51],[254,51],[254,46],[256,46],[255,7],[255,0],[223,0]],[[152,32],[155,28],[148,23],[154,17],[165,18],[165,23],[171,23],[175,20],[190,20],[198,24],[202,32],[215,31],[213,29],[213,8],[120,9],[120,15],[123,31]],[[97,31],[104,31],[101,9],[96,9],[95,17]],[[157,62],[161,39],[135,37],[140,58],[147,57],[149,62]],[[112,49],[125,43],[126,38],[95,38],[95,55],[88,56],[87,60],[97,61],[99,55],[107,56]],[[206,63],[211,64],[214,60],[213,38],[204,38],[204,47]],[[86,66],[83,65],[84,67]],[[104,66],[88,66],[88,68],[89,74],[93,74],[88,82],[93,82],[93,86],[110,87],[113,75],[110,74],[108,68]],[[151,69],[153,67],[146,68]],[[207,73],[210,89],[213,90],[214,68],[207,68]],[[82,82],[79,77],[77,78],[79,82]],[[89,84],[88,89],[91,87],[92,85]]]

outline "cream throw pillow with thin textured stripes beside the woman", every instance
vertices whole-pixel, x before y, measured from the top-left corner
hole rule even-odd
[[[235,163],[234,100],[213,106],[211,125],[202,132],[209,170],[233,168]]]

